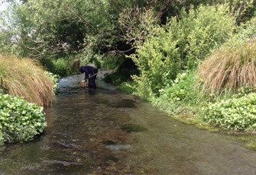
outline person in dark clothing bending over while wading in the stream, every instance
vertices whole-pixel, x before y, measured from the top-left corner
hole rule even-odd
[[[79,67],[79,72],[83,74],[85,73],[85,81],[89,81],[88,87],[96,89],[96,77],[98,74],[97,68],[91,66],[91,65],[85,65]]]

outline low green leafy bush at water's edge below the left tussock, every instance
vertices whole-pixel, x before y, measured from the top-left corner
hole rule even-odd
[[[45,126],[43,107],[18,96],[0,94],[0,145],[28,141]]]

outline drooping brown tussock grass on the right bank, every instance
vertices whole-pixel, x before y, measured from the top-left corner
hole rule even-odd
[[[196,72],[202,78],[203,92],[235,93],[238,88],[256,84],[256,38],[241,46],[217,50]]]

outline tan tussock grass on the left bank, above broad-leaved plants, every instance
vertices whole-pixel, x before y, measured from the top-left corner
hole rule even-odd
[[[5,94],[24,97],[40,106],[49,105],[53,99],[53,81],[32,59],[0,55],[0,88]]]

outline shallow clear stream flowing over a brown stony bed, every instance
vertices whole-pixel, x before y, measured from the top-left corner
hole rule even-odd
[[[83,75],[61,79],[44,133],[8,145],[0,174],[256,174],[255,151],[171,119],[105,84],[102,73],[96,90],[79,87]]]

